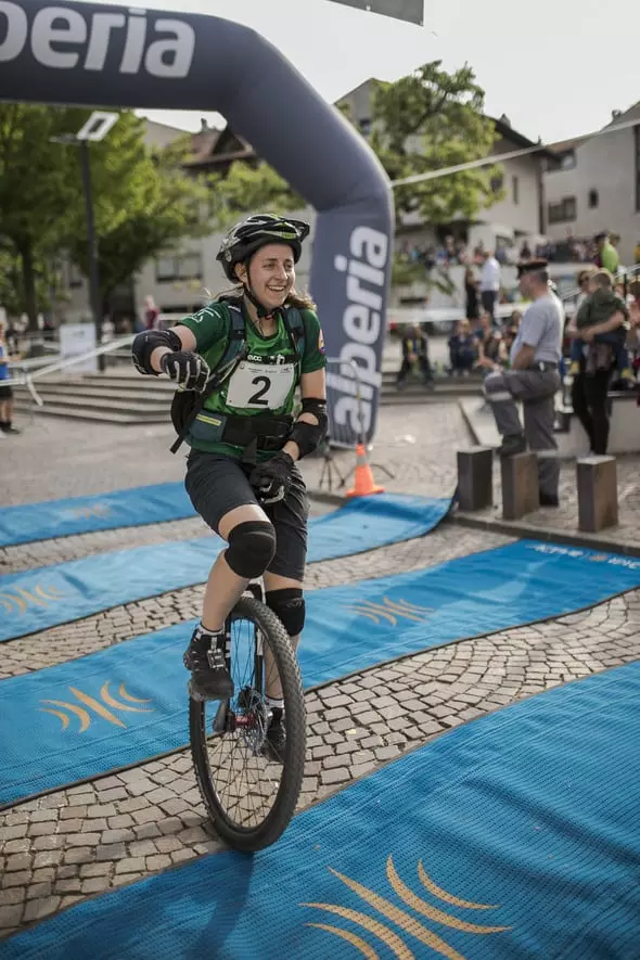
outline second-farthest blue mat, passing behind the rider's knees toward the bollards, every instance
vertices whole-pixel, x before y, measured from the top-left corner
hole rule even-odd
[[[309,562],[421,537],[438,525],[450,502],[391,494],[349,501],[310,521]],[[202,584],[221,547],[212,535],[7,574],[0,577],[0,641]]]

